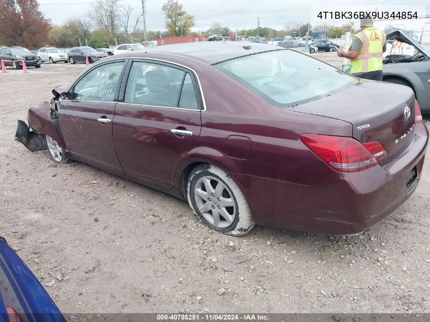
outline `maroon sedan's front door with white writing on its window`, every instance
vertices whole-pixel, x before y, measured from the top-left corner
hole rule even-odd
[[[113,112],[126,60],[90,69],[71,86],[59,109],[60,127],[72,158],[123,173],[112,137]]]

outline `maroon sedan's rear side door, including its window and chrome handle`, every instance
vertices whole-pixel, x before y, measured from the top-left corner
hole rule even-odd
[[[123,102],[115,108],[113,140],[125,174],[141,183],[173,187],[177,165],[200,135],[204,105],[196,76],[174,64],[136,59],[123,91]]]

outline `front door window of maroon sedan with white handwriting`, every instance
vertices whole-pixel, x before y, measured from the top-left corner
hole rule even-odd
[[[124,62],[93,69],[74,86],[73,100],[113,102]]]

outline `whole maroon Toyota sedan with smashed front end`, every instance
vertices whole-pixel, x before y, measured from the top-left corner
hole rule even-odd
[[[267,44],[115,55],[53,93],[17,140],[188,200],[235,236],[362,232],[416,189],[428,141],[409,87]]]

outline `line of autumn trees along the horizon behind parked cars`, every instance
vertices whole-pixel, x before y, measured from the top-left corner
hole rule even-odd
[[[142,43],[145,40],[141,7],[123,5],[120,0],[99,0],[92,4],[85,16],[71,17],[62,25],[53,25],[39,9],[37,0],[0,0],[0,45],[24,46],[37,49],[43,46],[74,47],[88,45],[95,48],[108,47],[114,43]],[[184,10],[178,0],[167,0],[160,7],[165,17],[165,31],[147,30],[147,41],[160,37],[186,35],[227,36],[237,34],[242,37],[276,38],[286,35],[298,37],[306,35],[310,24],[285,23],[284,30],[270,27],[231,30],[228,26],[214,21],[209,30],[192,32],[195,17]],[[340,37],[348,26],[327,28],[329,37]]]

